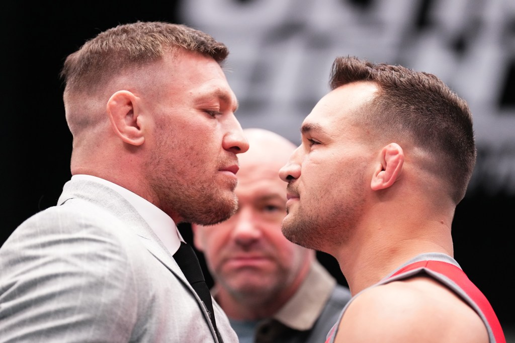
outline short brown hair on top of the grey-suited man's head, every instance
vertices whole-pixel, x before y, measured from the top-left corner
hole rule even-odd
[[[121,70],[158,61],[177,49],[212,57],[220,65],[229,55],[223,43],[185,25],[140,21],[118,25],[66,58],[60,74],[65,94],[95,89]]]

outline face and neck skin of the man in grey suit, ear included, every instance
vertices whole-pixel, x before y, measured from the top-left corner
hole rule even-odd
[[[215,60],[167,53],[114,77],[89,100],[101,119],[93,129],[77,130],[72,174],[117,183],[176,223],[213,224],[235,211],[236,154],[248,142],[234,116],[236,97]],[[79,109],[67,104],[67,115],[80,115]]]

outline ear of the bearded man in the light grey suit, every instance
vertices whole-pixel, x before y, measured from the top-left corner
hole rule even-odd
[[[138,146],[143,144],[145,136],[136,100],[129,91],[117,91],[107,101],[107,114],[114,133],[125,143]]]

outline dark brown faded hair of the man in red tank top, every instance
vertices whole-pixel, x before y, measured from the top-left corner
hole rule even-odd
[[[476,161],[467,102],[433,74],[350,56],[336,58],[331,89],[354,81],[371,81],[379,88],[359,110],[359,121],[388,140],[408,137],[432,155],[432,165],[425,167],[445,181],[456,204],[461,201]]]

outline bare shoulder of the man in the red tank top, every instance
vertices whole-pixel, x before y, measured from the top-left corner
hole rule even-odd
[[[336,342],[488,343],[485,324],[453,291],[428,277],[364,290],[342,318]]]

